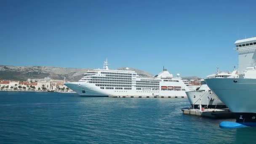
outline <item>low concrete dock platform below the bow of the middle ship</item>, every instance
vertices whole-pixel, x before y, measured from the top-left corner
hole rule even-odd
[[[229,109],[181,109],[183,115],[195,115],[200,117],[208,117],[213,119],[235,118],[234,114]]]

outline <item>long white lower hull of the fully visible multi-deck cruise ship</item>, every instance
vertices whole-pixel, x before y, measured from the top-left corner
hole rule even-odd
[[[185,91],[143,91],[132,88],[131,90],[100,89],[95,84],[87,82],[64,83],[80,96],[184,96]],[[83,93],[83,90],[85,93]]]

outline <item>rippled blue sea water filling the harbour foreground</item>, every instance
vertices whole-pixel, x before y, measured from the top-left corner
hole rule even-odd
[[[224,120],[182,115],[186,98],[80,97],[0,91],[3,144],[251,144],[256,128],[219,128]],[[229,119],[228,121],[235,121]]]

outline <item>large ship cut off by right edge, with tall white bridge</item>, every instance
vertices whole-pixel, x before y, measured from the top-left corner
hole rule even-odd
[[[209,78],[205,82],[229,109],[237,123],[256,126],[256,37],[237,40],[239,78]]]

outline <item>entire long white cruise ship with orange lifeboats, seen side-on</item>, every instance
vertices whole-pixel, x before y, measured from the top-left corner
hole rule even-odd
[[[78,82],[64,83],[80,96],[179,96],[187,97],[187,86],[179,77],[163,69],[154,77],[140,77],[135,71],[94,69],[84,74]]]

